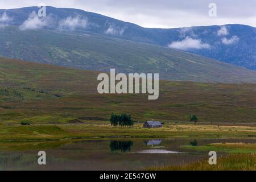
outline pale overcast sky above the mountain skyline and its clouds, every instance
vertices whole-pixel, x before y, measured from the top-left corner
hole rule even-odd
[[[91,11],[143,27],[174,28],[239,23],[256,27],[256,0],[0,0],[0,9],[27,6],[69,7]],[[217,17],[210,17],[216,3]]]

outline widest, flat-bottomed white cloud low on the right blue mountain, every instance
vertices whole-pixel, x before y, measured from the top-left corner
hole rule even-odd
[[[187,36],[187,38],[181,41],[172,42],[168,47],[185,51],[187,49],[209,49],[210,45],[202,43],[201,39],[193,39]]]

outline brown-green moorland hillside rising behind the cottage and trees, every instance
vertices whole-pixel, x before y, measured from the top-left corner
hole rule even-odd
[[[159,99],[147,94],[98,94],[99,72],[0,58],[1,123],[108,122],[111,113],[135,121],[253,123],[255,84],[160,81]]]

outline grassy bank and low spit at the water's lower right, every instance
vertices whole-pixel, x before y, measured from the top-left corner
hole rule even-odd
[[[204,159],[180,166],[151,167],[148,169],[160,171],[256,170],[256,143],[210,143],[204,146],[182,147],[197,151],[216,151],[217,154],[222,155],[217,155],[216,165],[209,165],[208,159]]]

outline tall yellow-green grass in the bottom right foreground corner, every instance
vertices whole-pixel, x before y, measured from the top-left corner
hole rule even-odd
[[[158,171],[255,171],[256,154],[236,154],[217,157],[216,165],[209,165],[208,159],[183,166],[151,167]]]

